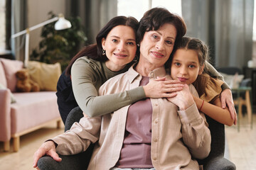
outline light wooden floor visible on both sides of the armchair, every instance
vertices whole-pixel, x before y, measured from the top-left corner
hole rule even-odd
[[[256,170],[256,114],[253,114],[253,129],[242,118],[240,132],[236,126],[226,127],[226,140],[228,145],[227,157],[238,170]],[[3,152],[3,143],[0,142],[0,169],[1,170],[29,170],[33,169],[33,153],[45,141],[64,131],[56,129],[56,125],[36,130],[21,137],[19,152]]]

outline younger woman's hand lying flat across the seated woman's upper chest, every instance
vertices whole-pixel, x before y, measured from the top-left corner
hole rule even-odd
[[[181,91],[183,86],[181,81],[161,77],[149,81],[143,89],[148,98],[171,98],[176,96],[176,91]]]

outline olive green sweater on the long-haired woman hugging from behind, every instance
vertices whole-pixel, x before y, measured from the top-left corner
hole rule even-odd
[[[99,62],[87,57],[80,57],[75,61],[71,68],[73,92],[78,106],[86,115],[90,117],[105,115],[146,98],[142,86],[118,94],[98,96],[98,89],[107,79],[126,72],[129,67],[130,65],[127,64],[127,67],[119,72],[112,72],[107,69],[105,62]],[[207,64],[206,67],[208,67],[210,76],[223,80],[223,77],[214,67],[210,64]],[[222,88],[227,89],[228,85],[222,86]],[[107,107],[102,107],[100,103],[108,104],[105,105]]]

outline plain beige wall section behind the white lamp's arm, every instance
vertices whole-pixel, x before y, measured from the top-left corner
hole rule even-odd
[[[65,0],[28,0],[28,27],[48,20],[48,12],[63,13],[65,15]],[[29,42],[29,54],[38,47],[41,40],[41,28],[31,31]]]

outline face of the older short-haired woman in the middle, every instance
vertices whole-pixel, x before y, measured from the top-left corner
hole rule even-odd
[[[174,49],[176,34],[176,28],[170,23],[146,32],[140,43],[139,62],[150,64],[151,69],[164,66]]]

